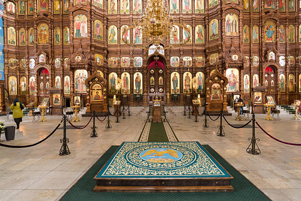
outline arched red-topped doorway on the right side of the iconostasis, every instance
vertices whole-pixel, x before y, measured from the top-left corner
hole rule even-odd
[[[263,85],[266,86],[267,92],[266,95],[273,96],[276,100],[276,93],[277,93],[277,78],[276,78],[276,71],[275,68],[272,66],[267,66],[264,72],[264,82]]]

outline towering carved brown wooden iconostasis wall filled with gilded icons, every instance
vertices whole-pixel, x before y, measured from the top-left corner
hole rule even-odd
[[[187,24],[191,37],[182,47],[168,49],[187,38],[186,30],[177,29],[172,39],[160,40],[157,55],[138,29],[128,30],[123,39],[148,49],[126,46],[121,38],[146,2],[5,1],[0,80],[9,103],[14,98],[39,103],[55,87],[62,89],[64,103],[80,96],[85,106],[85,80],[97,69],[107,81],[108,103],[114,95],[118,100],[127,95],[127,104],[147,106],[153,92],[160,92],[162,104],[184,105],[187,95],[207,98],[205,80],[216,66],[229,80],[223,97],[228,105],[233,94],[248,103],[259,85],[277,104],[301,98],[300,0],[194,0],[185,6],[184,0],[169,1],[173,20]]]

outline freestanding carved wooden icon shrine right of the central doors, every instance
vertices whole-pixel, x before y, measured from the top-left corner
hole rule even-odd
[[[220,110],[228,113],[227,110],[227,84],[228,79],[216,71],[206,79],[206,103],[207,111],[211,114],[218,114]]]

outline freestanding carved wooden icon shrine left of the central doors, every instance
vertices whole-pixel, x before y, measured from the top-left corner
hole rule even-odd
[[[86,79],[87,86],[87,111],[91,114],[95,111],[97,114],[106,115],[108,112],[107,81],[95,71]]]

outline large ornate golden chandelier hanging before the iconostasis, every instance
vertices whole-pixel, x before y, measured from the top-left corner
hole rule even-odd
[[[176,26],[178,26],[179,30],[177,30]],[[140,39],[143,37],[146,38],[146,40],[142,40],[140,44],[134,40],[133,43],[130,43],[127,36],[132,29],[138,31]],[[133,48],[148,50],[150,44],[152,44],[159,50],[160,43],[164,43],[164,41],[168,42],[174,39],[174,37],[180,36],[180,29],[186,31],[187,37],[179,43],[170,43],[164,47],[164,49],[173,49],[183,46],[190,40],[191,33],[186,24],[174,22],[173,17],[170,17],[168,1],[148,0],[146,8],[138,20],[133,21],[132,25],[122,30],[121,39],[124,44]],[[180,40],[180,38],[178,38],[178,40]],[[155,51],[154,54],[158,56],[158,51]]]

